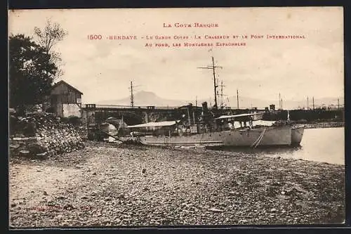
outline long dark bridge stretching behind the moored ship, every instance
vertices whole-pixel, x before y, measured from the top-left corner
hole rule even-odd
[[[242,114],[252,111],[265,111],[263,119],[277,120],[287,119],[287,110],[249,110],[249,109],[232,109],[224,108],[219,110],[220,115]],[[195,118],[199,117],[202,112],[202,107],[194,105],[185,105],[181,107],[171,106],[130,106],[130,105],[98,105],[86,104],[82,105],[81,117],[86,124],[96,123],[101,124],[109,117],[121,119],[128,125],[143,124],[147,122],[169,121],[175,119],[185,119],[188,122],[195,122]],[[306,119],[307,121],[316,121],[323,119],[343,120],[343,110],[290,110],[290,119],[298,121]]]

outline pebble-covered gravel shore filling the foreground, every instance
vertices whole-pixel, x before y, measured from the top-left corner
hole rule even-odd
[[[342,223],[341,165],[244,152],[87,142],[11,158],[10,226]]]

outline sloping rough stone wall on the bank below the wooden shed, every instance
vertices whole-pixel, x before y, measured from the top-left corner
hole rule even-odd
[[[16,124],[23,127],[10,138],[10,155],[47,157],[84,148],[74,127],[52,114],[28,115]]]

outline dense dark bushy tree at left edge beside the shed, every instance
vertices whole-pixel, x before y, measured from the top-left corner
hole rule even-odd
[[[41,103],[51,89],[58,67],[46,48],[24,34],[11,34],[8,44],[10,107]]]

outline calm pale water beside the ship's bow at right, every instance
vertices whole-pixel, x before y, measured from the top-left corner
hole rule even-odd
[[[245,150],[253,155],[285,157],[331,164],[345,164],[345,129],[305,129],[297,148],[268,148]],[[232,149],[234,151],[235,149]]]

